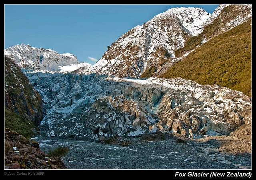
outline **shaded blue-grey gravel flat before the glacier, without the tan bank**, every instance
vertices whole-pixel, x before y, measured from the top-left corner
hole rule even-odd
[[[68,169],[250,169],[251,154],[230,154],[218,150],[213,140],[147,141],[141,137],[121,138],[128,142],[103,144],[95,141],[37,137],[46,153],[57,146],[68,146],[62,158]]]

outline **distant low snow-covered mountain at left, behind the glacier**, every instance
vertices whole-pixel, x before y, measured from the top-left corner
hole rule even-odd
[[[21,69],[34,72],[78,73],[91,66],[89,63],[78,61],[73,54],[59,54],[52,49],[31,47],[26,44],[17,44],[4,49],[4,55],[11,58]]]

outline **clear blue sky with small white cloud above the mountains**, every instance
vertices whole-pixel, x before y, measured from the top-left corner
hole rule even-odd
[[[218,4],[5,4],[4,48],[29,44],[93,65],[122,34],[175,7],[212,14]]]

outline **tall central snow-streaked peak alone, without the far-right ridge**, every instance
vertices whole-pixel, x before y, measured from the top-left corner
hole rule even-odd
[[[85,73],[139,77],[154,64],[175,57],[185,40],[202,31],[210,14],[201,8],[172,8],[123,34]]]

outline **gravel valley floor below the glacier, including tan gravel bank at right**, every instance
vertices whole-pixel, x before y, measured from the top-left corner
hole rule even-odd
[[[36,138],[44,151],[68,146],[68,169],[251,169],[251,127],[230,136],[184,138],[170,134],[113,137],[89,142]]]

